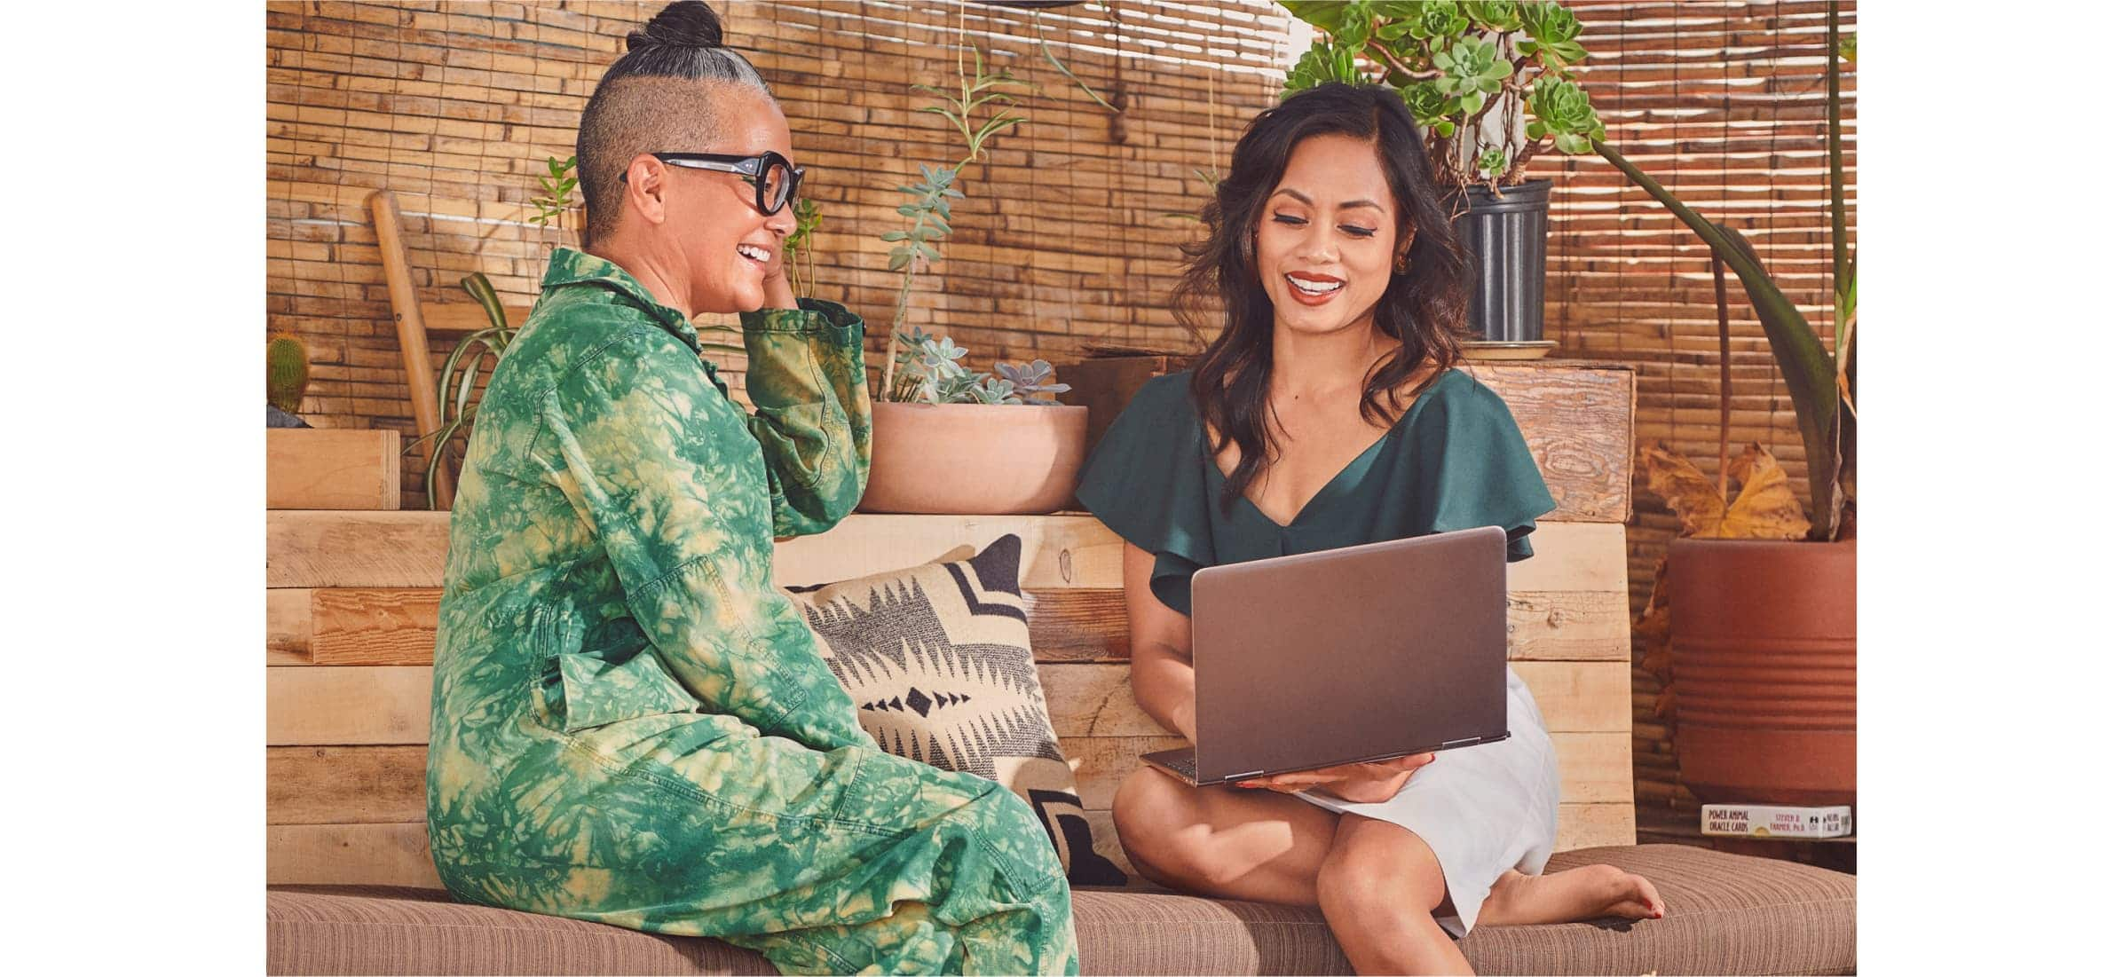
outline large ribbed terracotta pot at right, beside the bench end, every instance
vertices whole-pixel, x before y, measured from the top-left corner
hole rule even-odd
[[[1675,758],[1705,803],[1858,801],[1858,544],[1675,539]]]

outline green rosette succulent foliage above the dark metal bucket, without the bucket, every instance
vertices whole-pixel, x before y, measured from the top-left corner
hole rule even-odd
[[[1577,15],[1552,0],[1282,6],[1325,32],[1291,68],[1284,93],[1327,81],[1393,87],[1429,130],[1431,170],[1442,185],[1520,185],[1543,147],[1580,155],[1607,136],[1573,74],[1586,59]],[[1484,119],[1503,125],[1484,130]]]

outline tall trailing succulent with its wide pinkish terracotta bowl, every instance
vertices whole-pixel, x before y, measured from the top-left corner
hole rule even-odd
[[[911,202],[900,204],[904,229],[885,232],[890,268],[900,272],[892,310],[892,342],[877,395],[870,404],[870,480],[862,493],[864,512],[930,514],[1040,514],[1070,503],[1076,467],[1083,463],[1089,408],[1053,401],[1068,384],[1053,382],[1045,359],[1028,365],[996,363],[994,374],[972,374],[960,359],[966,350],[947,336],[907,327],[907,302],[915,278],[951,234],[951,200],[960,172],[981,159],[987,140],[1023,123],[1011,115],[1023,87],[1008,70],[987,72],[981,51],[972,51],[972,72],[960,62],[957,91],[915,85],[966,144],[955,166],[917,164],[919,178],[900,187]]]

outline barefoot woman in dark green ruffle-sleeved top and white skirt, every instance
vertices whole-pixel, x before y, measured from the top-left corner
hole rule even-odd
[[[1554,508],[1503,401],[1450,370],[1463,263],[1408,108],[1323,85],[1261,113],[1180,282],[1195,370],[1144,384],[1076,497],[1127,539],[1136,701],[1193,739],[1189,578],[1219,563],[1503,527]],[[1293,648],[1291,654],[1304,654]],[[1469,973],[1482,924],[1656,918],[1613,867],[1541,875],[1556,756],[1507,678],[1512,737],[1444,756],[1193,788],[1140,769],[1115,799],[1136,867],[1210,896],[1318,905],[1359,973]]]

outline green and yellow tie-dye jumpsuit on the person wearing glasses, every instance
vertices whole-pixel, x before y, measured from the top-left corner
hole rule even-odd
[[[480,404],[435,639],[429,841],[463,901],[722,937],[788,973],[1074,973],[1002,786],[877,750],[773,586],[868,474],[862,321],[686,319],[560,248]]]

